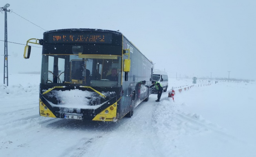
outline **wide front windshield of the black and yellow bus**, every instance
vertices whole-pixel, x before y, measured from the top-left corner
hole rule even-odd
[[[121,56],[42,55],[42,84],[121,87]]]

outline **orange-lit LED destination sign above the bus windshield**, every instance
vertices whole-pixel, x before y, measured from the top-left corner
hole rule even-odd
[[[112,43],[111,33],[49,33],[48,41],[51,43]]]

